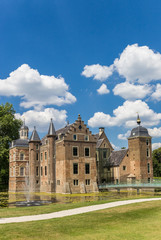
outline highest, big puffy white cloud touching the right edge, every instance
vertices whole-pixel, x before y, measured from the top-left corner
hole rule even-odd
[[[127,81],[149,83],[161,79],[161,54],[147,46],[128,45],[114,66]]]

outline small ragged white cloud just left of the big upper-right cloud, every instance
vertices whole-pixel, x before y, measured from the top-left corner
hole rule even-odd
[[[95,80],[105,81],[113,73],[113,65],[101,66],[100,64],[86,65],[82,72],[85,77],[93,77]]]

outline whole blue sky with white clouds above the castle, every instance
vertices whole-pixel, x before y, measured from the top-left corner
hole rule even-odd
[[[161,2],[1,0],[0,102],[42,137],[80,113],[127,147],[142,125],[161,146]]]

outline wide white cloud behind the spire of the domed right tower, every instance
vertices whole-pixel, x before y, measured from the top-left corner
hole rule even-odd
[[[125,101],[113,111],[113,116],[103,112],[96,112],[92,118],[88,120],[90,127],[112,127],[125,126],[132,128],[136,126],[136,113],[139,113],[142,124],[144,126],[157,125],[161,119],[161,113],[155,113],[149,108],[147,103],[142,100]]]

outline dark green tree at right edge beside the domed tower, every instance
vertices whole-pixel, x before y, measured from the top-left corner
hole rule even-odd
[[[161,177],[161,148],[153,150],[153,175]]]

